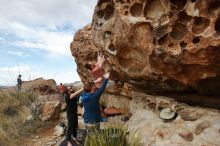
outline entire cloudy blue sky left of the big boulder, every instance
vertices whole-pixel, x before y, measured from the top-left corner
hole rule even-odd
[[[70,53],[75,32],[92,21],[97,0],[0,0],[0,85],[39,77],[80,80]]]

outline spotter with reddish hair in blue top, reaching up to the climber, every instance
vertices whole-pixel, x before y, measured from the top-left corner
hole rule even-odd
[[[108,79],[104,79],[101,87],[95,92],[92,91],[94,83],[86,83],[84,85],[84,93],[82,94],[82,103],[85,109],[84,123],[87,133],[90,134],[94,130],[100,129],[100,122],[102,120],[99,99],[104,92]]]

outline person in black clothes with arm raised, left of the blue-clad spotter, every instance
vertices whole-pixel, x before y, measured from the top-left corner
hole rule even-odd
[[[68,130],[67,140],[68,146],[72,146],[72,136],[74,141],[77,140],[78,116],[77,116],[77,97],[83,92],[83,88],[76,91],[72,86],[67,87],[65,91],[65,101],[67,104]]]

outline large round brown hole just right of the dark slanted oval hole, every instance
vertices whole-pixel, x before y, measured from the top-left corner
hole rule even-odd
[[[173,27],[172,32],[170,33],[170,36],[174,39],[174,40],[181,40],[187,32],[187,28],[185,25],[181,24],[181,23],[176,23]]]

